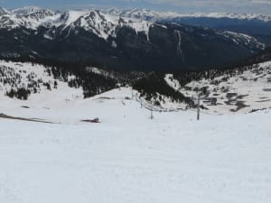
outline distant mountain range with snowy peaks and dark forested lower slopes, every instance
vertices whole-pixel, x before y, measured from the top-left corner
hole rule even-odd
[[[145,9],[58,12],[38,7],[0,8],[0,56],[114,69],[203,69],[265,49],[265,43],[250,33],[184,21],[202,16]],[[219,20],[271,20],[256,14],[209,14],[204,18],[214,16]]]

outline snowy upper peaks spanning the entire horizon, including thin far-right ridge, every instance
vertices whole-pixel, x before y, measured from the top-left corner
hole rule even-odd
[[[36,6],[27,6],[12,11],[0,8],[0,28],[25,27],[36,30],[40,26],[45,26],[47,28],[69,28],[69,31],[71,31],[71,29],[80,27],[107,40],[109,35],[115,34],[117,26],[130,26],[135,29],[135,32],[145,32],[148,36],[151,24],[158,20],[173,19],[175,17],[228,17],[271,22],[271,16],[263,14],[178,14],[138,8],[130,10],[119,10],[117,8],[108,10],[73,10],[59,13]]]

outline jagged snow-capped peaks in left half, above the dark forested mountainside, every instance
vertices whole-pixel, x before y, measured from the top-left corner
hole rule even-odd
[[[61,27],[61,29],[69,27],[71,31],[71,29],[81,27],[107,39],[109,35],[115,34],[117,26],[123,25],[134,28],[136,32],[147,34],[150,23],[132,14],[123,16],[117,9],[71,10],[57,13],[33,6],[14,9],[11,12],[0,10],[0,27],[7,29],[26,27],[36,30],[40,26],[45,26],[47,28]]]

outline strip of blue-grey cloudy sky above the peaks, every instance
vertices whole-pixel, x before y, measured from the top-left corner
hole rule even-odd
[[[271,14],[271,0],[0,0],[0,7],[8,9],[26,5],[36,5],[57,10],[90,7],[138,7],[181,13],[230,12]]]

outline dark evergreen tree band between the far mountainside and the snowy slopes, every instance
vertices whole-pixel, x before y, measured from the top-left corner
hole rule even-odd
[[[12,60],[18,62],[32,62],[34,64],[42,64],[49,75],[52,75],[56,79],[67,82],[71,88],[83,88],[84,97],[92,97],[112,88],[116,88],[117,83],[125,86],[126,84],[132,84],[133,88],[141,92],[142,97],[148,99],[157,97],[157,93],[165,97],[170,97],[173,101],[184,101],[190,103],[190,99],[184,97],[180,92],[175,91],[169,87],[164,81],[164,74],[166,72],[156,71],[150,73],[138,72],[138,71],[117,71],[116,69],[105,69],[107,75],[97,74],[89,71],[87,67],[97,67],[104,69],[105,67],[99,66],[95,61],[93,63],[86,63],[84,61],[67,62],[61,60],[49,60],[42,58],[31,57],[14,57],[5,58],[4,60]],[[201,69],[201,70],[178,70],[173,72],[174,78],[177,78],[182,86],[190,83],[192,80],[201,80],[202,78],[210,79],[212,84],[219,84],[221,81],[227,81],[229,78],[242,74],[248,69],[257,68],[258,62],[271,60],[271,48],[262,51],[261,53],[249,58],[248,60],[231,64],[229,66],[222,67],[222,69]],[[215,78],[220,78],[217,80]],[[19,77],[19,76],[18,76]],[[31,78],[29,78],[31,79]],[[6,81],[4,81],[6,82]],[[33,81],[33,87],[38,88],[39,83],[35,84]],[[50,84],[43,84],[48,89],[52,87]],[[57,84],[53,84],[54,88],[57,88]],[[25,90],[25,91],[24,91]],[[11,97],[28,97],[27,88],[21,89],[20,92],[11,90],[7,95]]]

